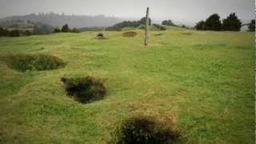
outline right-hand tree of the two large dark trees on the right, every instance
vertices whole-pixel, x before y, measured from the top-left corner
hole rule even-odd
[[[242,22],[235,13],[230,14],[227,18],[222,21],[222,30],[240,31]]]

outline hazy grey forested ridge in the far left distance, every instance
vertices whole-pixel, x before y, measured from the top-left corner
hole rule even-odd
[[[32,21],[42,22],[50,26],[63,26],[68,24],[70,27],[90,27],[90,26],[112,26],[117,22],[121,22],[121,18],[106,17],[104,15],[88,16],[88,15],[65,15],[65,14],[27,14],[23,16],[11,16],[1,18],[0,22],[6,21]]]

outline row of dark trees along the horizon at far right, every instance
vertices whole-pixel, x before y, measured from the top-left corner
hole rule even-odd
[[[248,24],[249,31],[255,31],[255,20]],[[206,21],[200,21],[194,26],[196,30],[214,30],[214,31],[240,31],[242,22],[235,13],[226,18],[220,19],[218,14],[212,14]]]

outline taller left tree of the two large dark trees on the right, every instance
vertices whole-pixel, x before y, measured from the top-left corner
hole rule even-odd
[[[222,22],[218,14],[210,15],[210,17],[206,19],[205,26],[206,26],[205,27],[206,30],[215,30],[215,31],[222,30]]]

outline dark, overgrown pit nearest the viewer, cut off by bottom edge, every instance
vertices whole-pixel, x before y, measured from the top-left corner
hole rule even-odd
[[[170,144],[182,142],[181,135],[173,129],[170,123],[150,116],[128,118],[115,130],[113,143]]]

